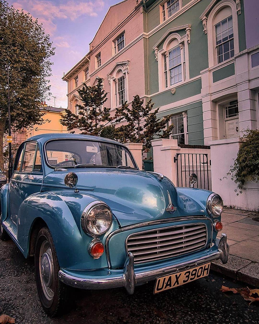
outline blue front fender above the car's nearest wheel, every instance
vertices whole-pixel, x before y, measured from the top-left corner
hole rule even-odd
[[[93,259],[88,247],[93,237],[86,235],[80,221],[84,208],[96,198],[72,190],[39,192],[21,204],[18,213],[17,240],[28,257],[30,233],[35,221],[42,219],[48,226],[55,245],[60,267],[85,270],[107,267],[106,254]],[[110,229],[101,237],[105,244],[107,235],[118,228],[113,219]]]

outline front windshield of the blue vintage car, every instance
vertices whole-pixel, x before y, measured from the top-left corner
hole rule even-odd
[[[137,168],[129,150],[121,145],[87,140],[54,140],[46,144],[48,163],[55,167],[108,166]]]

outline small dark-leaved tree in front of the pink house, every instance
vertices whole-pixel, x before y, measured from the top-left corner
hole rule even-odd
[[[82,89],[78,89],[78,94],[82,101],[82,105],[76,105],[78,115],[67,110],[60,122],[68,131],[77,128],[81,134],[100,136],[104,126],[112,120],[110,108],[103,107],[107,101],[107,92],[103,89],[102,79],[99,78],[95,86],[84,84]]]

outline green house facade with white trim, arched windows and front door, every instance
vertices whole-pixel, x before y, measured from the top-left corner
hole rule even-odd
[[[253,90],[248,74],[259,50],[246,46],[244,1],[139,4],[146,96],[160,107],[158,118],[174,114],[172,138],[181,144],[208,145],[258,125],[258,66]]]

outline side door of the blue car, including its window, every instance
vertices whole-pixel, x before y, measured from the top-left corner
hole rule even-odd
[[[17,239],[20,224],[24,224],[22,219],[25,215],[19,214],[21,203],[31,194],[39,192],[42,186],[43,169],[39,145],[35,141],[27,142],[24,147],[17,152],[14,171],[9,185],[9,211],[8,229]]]

